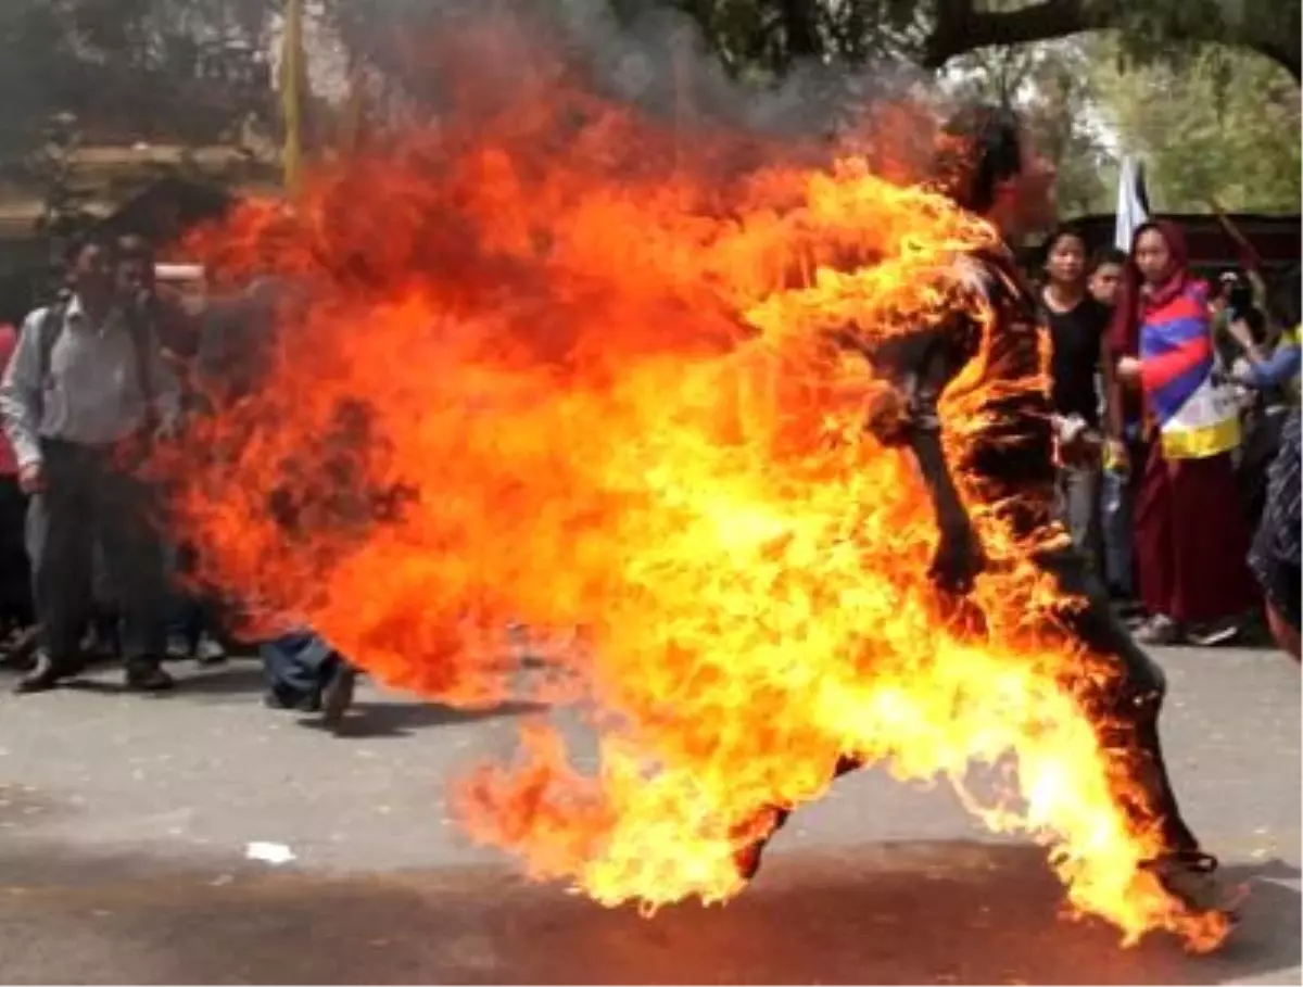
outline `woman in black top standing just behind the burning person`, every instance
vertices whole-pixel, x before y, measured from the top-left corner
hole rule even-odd
[[[1045,275],[1040,302],[1050,331],[1061,510],[1072,544],[1102,573],[1096,375],[1109,310],[1087,288],[1085,240],[1078,230],[1063,227],[1046,241]]]

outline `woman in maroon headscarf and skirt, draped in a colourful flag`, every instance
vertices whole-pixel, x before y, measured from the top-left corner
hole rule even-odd
[[[1127,392],[1136,393],[1149,439],[1145,461],[1130,464],[1143,470],[1135,548],[1149,612],[1136,637],[1224,643],[1256,603],[1231,465],[1239,418],[1214,374],[1208,288],[1191,277],[1171,223],[1136,230],[1108,344],[1110,423],[1121,424]]]

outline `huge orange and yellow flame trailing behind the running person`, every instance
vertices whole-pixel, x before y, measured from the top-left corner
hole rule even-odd
[[[308,301],[265,387],[197,426],[184,523],[220,582],[434,701],[507,694],[509,621],[581,629],[550,698],[598,730],[597,773],[532,724],[520,763],[457,793],[536,878],[723,901],[747,820],[853,753],[1044,842],[1126,941],[1212,947],[1221,924],[1140,870],[1154,841],[1072,685],[1108,672],[1046,630],[1031,546],[967,490],[1002,564],[973,592],[982,633],[947,621],[921,483],[861,432],[874,382],[825,341],[985,316],[945,272],[994,233],[818,152],[685,142],[549,85],[318,176],[293,211],[246,208],[211,258]],[[947,395],[951,447],[982,387]],[[1010,792],[964,790],[1005,760]]]

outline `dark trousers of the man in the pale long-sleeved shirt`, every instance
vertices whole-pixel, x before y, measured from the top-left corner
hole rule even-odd
[[[122,656],[167,650],[167,586],[150,495],[117,469],[112,451],[43,441],[46,488],[31,499],[27,539],[42,645],[56,660],[78,652],[90,616],[96,544],[122,616]]]

